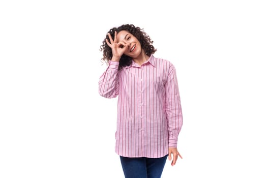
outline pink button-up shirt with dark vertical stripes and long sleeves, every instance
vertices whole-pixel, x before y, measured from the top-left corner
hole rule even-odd
[[[177,146],[183,116],[174,66],[151,55],[141,66],[118,70],[110,61],[99,79],[99,94],[115,98],[115,152],[124,157],[160,158]]]

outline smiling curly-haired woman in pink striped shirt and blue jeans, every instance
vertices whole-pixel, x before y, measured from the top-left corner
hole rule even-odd
[[[101,51],[108,63],[99,80],[99,94],[118,96],[115,152],[125,177],[161,177],[167,157],[179,157],[177,137],[182,108],[176,72],[155,57],[153,41],[139,27],[111,28]]]

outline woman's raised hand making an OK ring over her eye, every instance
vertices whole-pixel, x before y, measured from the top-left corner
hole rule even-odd
[[[111,35],[108,33],[110,43],[106,39],[107,45],[112,49],[112,59],[111,61],[120,61],[121,56],[127,50],[127,45],[122,42],[117,42],[117,32],[115,32],[114,40],[112,40]]]

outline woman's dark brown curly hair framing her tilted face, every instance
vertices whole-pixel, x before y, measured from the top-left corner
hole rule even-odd
[[[114,34],[115,32],[119,33],[121,31],[127,31],[133,36],[135,36],[138,41],[141,44],[141,48],[144,50],[145,54],[150,56],[151,54],[154,54],[157,49],[154,48],[153,41],[147,35],[144,31],[143,28],[141,29],[138,26],[134,26],[133,24],[124,24],[119,27],[113,27],[109,30],[109,34],[111,35],[112,39],[114,40]],[[108,34],[107,33],[107,34]],[[101,58],[101,61],[108,63],[111,58],[112,58],[112,50],[111,48],[107,45],[106,39],[108,39],[108,42],[110,42],[108,35],[106,34],[106,38],[102,42],[103,44],[100,46],[100,51],[103,51],[103,58]],[[122,67],[125,66],[130,66],[132,64],[132,58],[123,54],[120,59],[120,63],[118,65],[118,69],[122,69]]]

